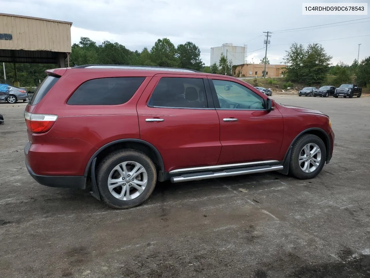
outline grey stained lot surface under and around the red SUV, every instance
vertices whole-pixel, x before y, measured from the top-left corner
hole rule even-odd
[[[317,178],[158,183],[121,211],[36,183],[26,104],[0,103],[0,277],[370,277],[370,97],[273,98],[332,119],[333,159]]]

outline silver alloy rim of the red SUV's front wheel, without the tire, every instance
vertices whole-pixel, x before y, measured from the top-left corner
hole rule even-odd
[[[309,143],[299,153],[299,166],[305,173],[312,173],[321,162],[321,150],[315,143]]]

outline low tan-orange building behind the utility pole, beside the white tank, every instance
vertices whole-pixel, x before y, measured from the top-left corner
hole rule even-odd
[[[284,64],[266,64],[266,77],[283,76]],[[263,76],[265,64],[241,64],[236,67],[233,72],[234,76],[238,77],[260,77]]]

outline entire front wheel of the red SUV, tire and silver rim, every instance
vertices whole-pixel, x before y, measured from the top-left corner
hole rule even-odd
[[[299,179],[312,179],[324,167],[326,147],[318,136],[302,135],[292,147],[289,172]]]

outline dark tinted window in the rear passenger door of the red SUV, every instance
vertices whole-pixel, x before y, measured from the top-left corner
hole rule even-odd
[[[208,108],[203,79],[162,77],[149,99],[148,106]]]

